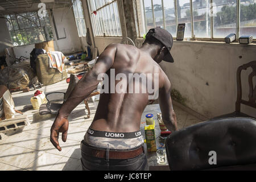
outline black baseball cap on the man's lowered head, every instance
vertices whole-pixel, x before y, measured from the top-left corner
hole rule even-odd
[[[166,56],[164,56],[163,60],[174,63],[174,58],[172,58],[172,55],[170,53],[170,50],[172,48],[172,44],[174,43],[174,40],[172,39],[172,35],[165,29],[160,27],[151,28],[146,35],[146,39],[148,36],[153,36],[155,39],[159,40],[164,47],[168,49],[168,53]]]

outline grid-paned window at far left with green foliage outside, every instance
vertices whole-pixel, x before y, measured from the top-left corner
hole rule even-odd
[[[53,40],[49,16],[38,16],[37,12],[5,15],[14,46]]]

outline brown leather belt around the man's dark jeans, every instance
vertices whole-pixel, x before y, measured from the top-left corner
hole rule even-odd
[[[107,150],[106,149],[100,149],[96,147],[89,146],[88,144],[85,144],[84,142],[81,142],[81,151],[85,154],[94,156],[96,158],[108,158],[108,159],[131,159],[135,158],[138,155],[141,155],[144,150],[143,146],[136,148],[134,150],[128,150],[128,151],[120,151],[120,150],[109,150],[109,156],[106,156]]]

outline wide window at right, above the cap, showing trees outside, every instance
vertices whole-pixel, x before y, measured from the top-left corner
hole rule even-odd
[[[141,37],[150,28],[162,26],[175,38],[177,24],[185,23],[185,38],[224,39],[234,33],[237,39],[242,35],[256,39],[256,0],[133,1]]]

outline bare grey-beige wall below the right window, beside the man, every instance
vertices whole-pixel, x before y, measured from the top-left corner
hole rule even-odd
[[[205,117],[231,113],[237,99],[237,68],[256,60],[256,45],[174,42],[171,53],[175,63],[160,66],[185,105]],[[248,100],[248,75],[242,73],[243,99]],[[256,78],[254,79],[256,85]],[[242,105],[241,111],[256,117],[256,110]]]

